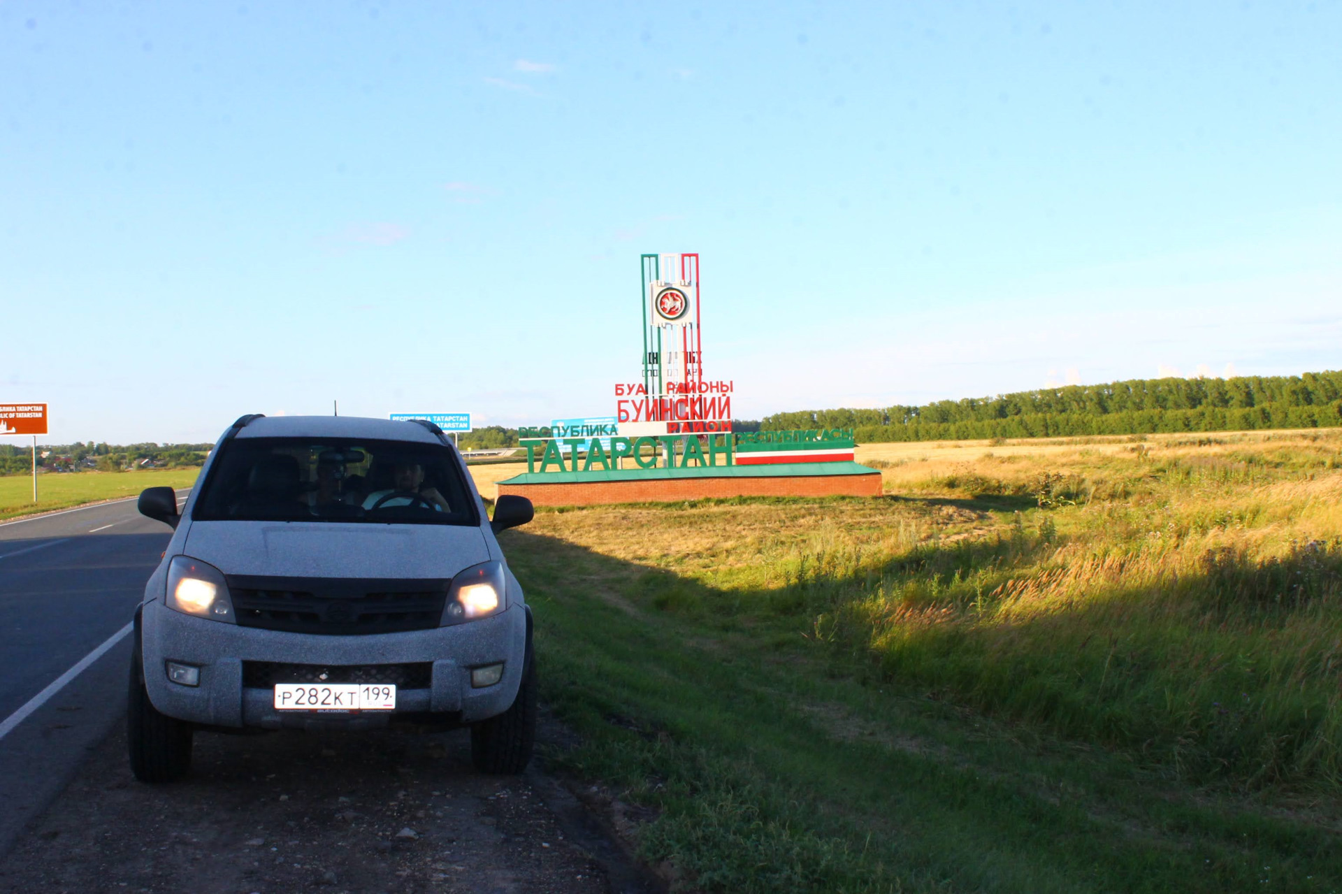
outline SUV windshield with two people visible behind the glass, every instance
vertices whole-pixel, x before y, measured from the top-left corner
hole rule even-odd
[[[478,525],[451,451],[399,440],[238,438],[220,451],[197,521]]]

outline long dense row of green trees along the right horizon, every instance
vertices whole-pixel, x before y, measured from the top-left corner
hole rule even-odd
[[[922,407],[774,413],[765,431],[854,428],[859,440],[1126,435],[1339,426],[1342,372],[1237,379],[1134,379]]]

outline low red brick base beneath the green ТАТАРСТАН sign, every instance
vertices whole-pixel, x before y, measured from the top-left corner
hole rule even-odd
[[[572,485],[498,485],[495,497],[517,494],[537,506],[597,506],[705,497],[880,497],[880,473],[794,478],[664,478]]]

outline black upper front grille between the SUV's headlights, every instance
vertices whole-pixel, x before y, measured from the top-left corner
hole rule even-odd
[[[451,580],[227,577],[242,627],[360,636],[432,630]]]

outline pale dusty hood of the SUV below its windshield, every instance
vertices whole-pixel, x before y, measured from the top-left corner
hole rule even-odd
[[[479,528],[336,522],[192,522],[183,552],[278,577],[452,577],[490,558]]]

